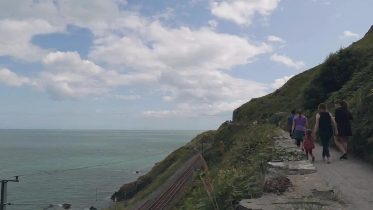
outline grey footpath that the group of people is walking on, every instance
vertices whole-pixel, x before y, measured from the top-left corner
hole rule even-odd
[[[332,163],[326,164],[321,161],[322,146],[315,146],[313,154],[317,172],[330,187],[335,187],[334,191],[342,193],[349,209],[373,209],[373,166],[350,156],[348,160],[338,160],[342,154],[334,148],[329,149]]]

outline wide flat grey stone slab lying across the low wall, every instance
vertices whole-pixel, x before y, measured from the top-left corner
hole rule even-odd
[[[267,173],[284,172],[288,175],[303,175],[316,172],[316,168],[309,160],[264,163],[264,170]]]

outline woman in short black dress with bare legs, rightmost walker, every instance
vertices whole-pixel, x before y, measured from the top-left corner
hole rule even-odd
[[[335,121],[338,125],[338,135],[335,135],[335,145],[341,150],[342,156],[339,160],[347,159],[347,139],[352,136],[352,129],[350,120],[353,120],[350,111],[348,111],[348,104],[346,101],[337,99],[334,101],[335,110]]]

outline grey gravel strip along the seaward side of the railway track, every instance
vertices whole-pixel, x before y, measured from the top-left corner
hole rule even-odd
[[[186,161],[184,164],[182,164],[179,169],[172,175],[170,176],[166,182],[163,183],[162,186],[160,186],[158,189],[156,189],[154,192],[152,192],[151,194],[149,194],[147,197],[145,197],[144,199],[142,199],[141,201],[137,202],[136,204],[134,204],[134,206],[132,206],[130,208],[130,210],[138,210],[142,204],[144,204],[147,200],[150,200],[143,208],[142,210],[146,210],[148,207],[150,207],[151,204],[153,204],[153,202],[160,196],[162,195],[162,193],[164,191],[166,191],[167,188],[169,188],[169,186],[176,181],[176,179],[179,178],[179,176],[185,172],[185,170],[193,163],[193,161],[195,160],[195,158],[197,158],[197,156],[200,155],[200,153],[194,155],[193,157],[191,157],[188,161]]]

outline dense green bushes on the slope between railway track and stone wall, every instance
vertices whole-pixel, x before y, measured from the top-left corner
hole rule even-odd
[[[204,172],[196,173],[197,187],[186,195],[181,209],[234,210],[242,199],[260,197],[264,183],[262,165],[272,160],[268,147],[273,143],[269,138],[273,136],[273,128],[250,126],[226,139],[230,149],[226,148],[220,163],[214,162],[210,168],[205,164]]]

